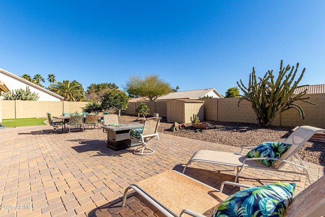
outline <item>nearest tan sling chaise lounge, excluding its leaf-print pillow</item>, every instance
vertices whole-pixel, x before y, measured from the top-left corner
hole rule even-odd
[[[182,173],[169,170],[127,187],[123,195],[122,206],[126,204],[129,190],[133,189],[168,217],[183,216],[185,213],[191,216],[211,216],[220,203],[232,197],[222,193],[224,184],[251,188],[249,185],[224,181],[219,191]],[[289,199],[291,203],[288,206],[286,201],[282,201],[286,206],[284,216],[317,217],[325,213],[325,194],[319,191],[324,185],[325,176],[322,176],[292,200]],[[253,188],[256,189],[256,187]],[[241,193],[239,192],[239,195]],[[275,196],[284,197],[282,193],[283,191],[276,191]],[[287,196],[292,197],[292,195]],[[270,199],[268,195],[262,198]],[[267,209],[266,206],[265,209]]]

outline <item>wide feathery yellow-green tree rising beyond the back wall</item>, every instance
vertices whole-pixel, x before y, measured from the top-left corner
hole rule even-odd
[[[149,101],[173,92],[170,84],[160,79],[158,75],[146,75],[144,78],[131,76],[124,89],[130,96],[144,97]]]

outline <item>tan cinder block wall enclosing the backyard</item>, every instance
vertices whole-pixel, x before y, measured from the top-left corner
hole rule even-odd
[[[295,109],[287,110],[272,123],[274,126],[296,127],[310,125],[325,128],[325,94],[306,95],[311,97],[308,101],[316,103],[312,105],[305,102],[297,102],[305,112],[305,119],[299,118]],[[238,107],[238,98],[204,99],[204,119],[225,122],[257,123],[256,115],[251,108],[251,103],[243,100]],[[167,116],[168,101],[144,102],[150,109],[150,115],[159,113],[159,116]],[[46,117],[46,112],[52,115],[61,115],[62,112],[82,112],[87,102],[44,102],[44,101],[20,101],[3,100],[2,118],[26,118]],[[140,103],[130,103],[124,114],[136,115],[136,108]]]

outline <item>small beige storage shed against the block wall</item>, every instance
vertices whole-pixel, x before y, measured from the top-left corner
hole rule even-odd
[[[167,121],[190,123],[190,117],[197,114],[200,120],[204,119],[204,101],[191,99],[175,99],[167,102]]]

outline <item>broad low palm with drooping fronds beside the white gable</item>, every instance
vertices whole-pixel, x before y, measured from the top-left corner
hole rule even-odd
[[[70,82],[68,80],[63,80],[63,82],[56,82],[53,86],[53,91],[64,97],[65,101],[84,101],[84,89],[82,85],[76,80]]]

